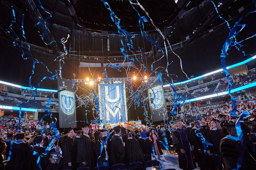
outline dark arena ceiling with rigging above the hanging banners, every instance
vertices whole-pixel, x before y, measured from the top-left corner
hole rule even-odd
[[[253,8],[251,0],[213,1],[219,14],[231,23],[240,13],[246,13]],[[134,8],[141,16],[146,16],[145,12],[138,5],[132,8],[128,0],[107,0],[107,2],[120,19],[120,27],[138,34],[133,38],[134,52],[142,52],[142,58],[152,60],[158,58],[161,53],[151,42],[141,36],[139,15]],[[36,25],[42,18],[49,17],[47,13],[49,12],[51,18],[45,21],[48,29],[44,40],[46,43],[53,40],[59,41],[70,34],[70,39],[66,43],[69,53],[67,59],[85,62],[123,61],[123,55],[120,52],[121,35],[118,34],[117,26],[110,18],[109,9],[101,0],[41,0],[41,3],[45,11],[40,7],[38,0],[2,0],[1,36],[9,41],[15,38],[9,27],[13,20],[11,11],[13,6],[17,22],[12,27],[19,37],[22,37],[21,16],[25,14],[25,35],[27,41],[34,45],[35,51],[46,51],[45,53],[53,55],[63,52],[61,44],[45,45],[41,39],[45,26]],[[170,43],[174,44],[174,49],[184,47],[225,24],[217,15],[210,0],[178,0],[177,3],[174,0],[139,0],[139,3]],[[149,21],[144,22],[147,36],[156,41],[160,47],[164,47],[160,34],[150,22],[150,18],[148,16],[146,18]],[[125,52],[132,55],[127,49]]]

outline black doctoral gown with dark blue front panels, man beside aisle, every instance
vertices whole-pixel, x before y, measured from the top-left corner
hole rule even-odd
[[[176,129],[173,132],[173,145],[178,152],[179,168],[180,169],[195,169],[196,164],[193,160],[192,151],[189,142],[193,145],[195,142],[191,139],[189,132],[185,129]],[[179,149],[184,149],[185,154],[182,154]]]

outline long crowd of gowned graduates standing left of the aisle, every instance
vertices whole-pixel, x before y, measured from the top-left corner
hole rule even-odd
[[[116,126],[109,131],[102,129],[92,133],[89,125],[84,125],[82,131],[74,132],[72,127],[68,128],[67,134],[60,139],[38,134],[29,141],[26,141],[25,133],[19,133],[15,139],[13,134],[8,134],[7,139],[0,142],[0,163],[3,162],[0,169],[39,170],[41,167],[42,170],[76,170],[78,167],[94,169],[97,165],[111,167],[117,163],[145,163],[152,159],[152,145],[154,154],[161,159],[163,152],[156,142],[158,135],[155,129],[149,131],[146,128],[141,132],[138,128],[130,128]],[[168,136],[171,136],[170,132]],[[9,152],[11,155],[7,162]]]

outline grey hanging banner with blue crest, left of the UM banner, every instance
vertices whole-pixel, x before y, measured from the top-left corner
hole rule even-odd
[[[64,78],[58,78],[57,80],[59,90],[67,89],[58,93],[60,128],[76,128],[77,115],[75,112],[75,88],[73,87],[73,82]]]

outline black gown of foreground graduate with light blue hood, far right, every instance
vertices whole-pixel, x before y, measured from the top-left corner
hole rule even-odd
[[[224,170],[237,169],[237,158],[242,153],[242,145],[240,141],[235,141],[230,138],[223,138],[220,142],[221,162],[224,165]],[[245,149],[243,162],[240,170],[255,170],[255,161],[250,157],[249,151]]]

